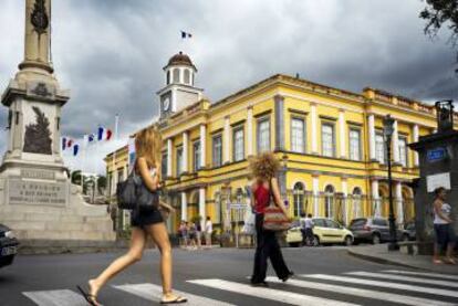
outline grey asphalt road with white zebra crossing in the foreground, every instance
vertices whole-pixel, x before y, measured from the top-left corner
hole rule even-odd
[[[0,305],[85,305],[75,285],[84,285],[119,254],[18,256],[12,266],[0,270]],[[458,305],[458,276],[418,274],[366,262],[336,246],[283,249],[283,254],[298,276],[285,284],[271,282],[269,288],[253,288],[247,279],[253,250],[174,250],[174,287],[197,296],[188,305],[202,306],[218,302],[263,306]],[[142,262],[102,289],[100,302],[108,306],[158,305],[158,258],[157,251],[146,251]],[[394,270],[397,272],[386,272]],[[271,267],[269,274],[273,275]]]

